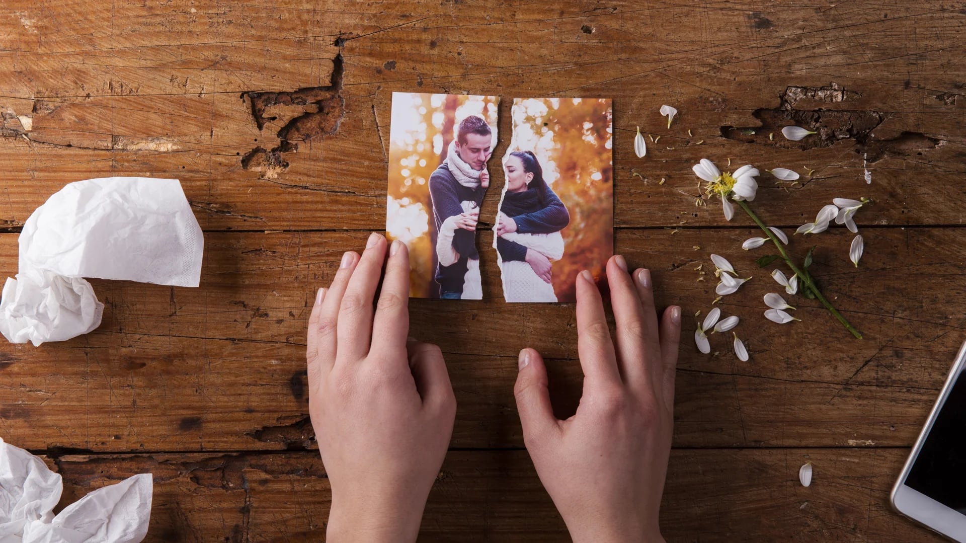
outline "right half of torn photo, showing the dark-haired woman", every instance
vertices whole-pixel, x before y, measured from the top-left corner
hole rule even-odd
[[[575,301],[613,254],[610,99],[516,99],[494,246],[506,301]]]

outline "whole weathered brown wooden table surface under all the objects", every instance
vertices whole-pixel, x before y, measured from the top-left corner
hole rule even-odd
[[[328,485],[308,418],[305,324],[343,251],[384,228],[393,91],[605,97],[614,111],[615,250],[681,304],[669,541],[939,541],[888,493],[966,338],[966,121],[958,2],[225,2],[8,0],[0,14],[0,273],[24,220],[67,183],[174,177],[205,230],[198,289],[95,280],[103,323],[41,348],[0,348],[3,439],[65,480],[62,506],[155,475],[148,541],[319,540]],[[680,111],[668,129],[664,104]],[[789,124],[820,127],[800,142]],[[633,152],[635,128],[655,136]],[[688,134],[691,131],[691,136]],[[774,138],[772,137],[774,134]],[[786,232],[834,197],[867,196],[812,272],[865,333],[814,300],[773,325],[777,285],[741,250],[759,234],[696,207],[701,157],[795,169],[760,178],[755,209]],[[864,161],[871,176],[867,184]],[[503,179],[493,168],[494,184]],[[664,178],[665,183],[660,180]],[[498,191],[483,207],[492,221]],[[489,232],[480,246],[489,246]],[[796,240],[801,257],[808,242]],[[721,307],[725,338],[691,340],[715,299],[698,264],[753,280]],[[413,300],[459,402],[426,541],[560,541],[524,449],[516,355],[548,358],[560,413],[581,374],[574,307],[507,304],[494,255],[485,300]],[[798,469],[811,462],[809,488]]]

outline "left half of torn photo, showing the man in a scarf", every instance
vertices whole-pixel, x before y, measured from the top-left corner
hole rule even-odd
[[[499,97],[392,93],[386,237],[410,249],[410,297],[481,300],[476,222]]]

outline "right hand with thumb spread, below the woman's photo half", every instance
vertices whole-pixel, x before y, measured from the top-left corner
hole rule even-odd
[[[651,276],[635,280],[621,256],[608,262],[616,347],[589,272],[577,278],[578,351],[583,393],[577,414],[554,416],[547,368],[533,349],[520,353],[514,393],[524,442],[576,543],[664,541],[658,510],[668,472],[674,370],[681,308],[660,328]]]

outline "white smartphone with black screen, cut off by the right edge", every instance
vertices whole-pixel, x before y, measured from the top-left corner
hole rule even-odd
[[[893,487],[893,508],[966,542],[966,342]]]

